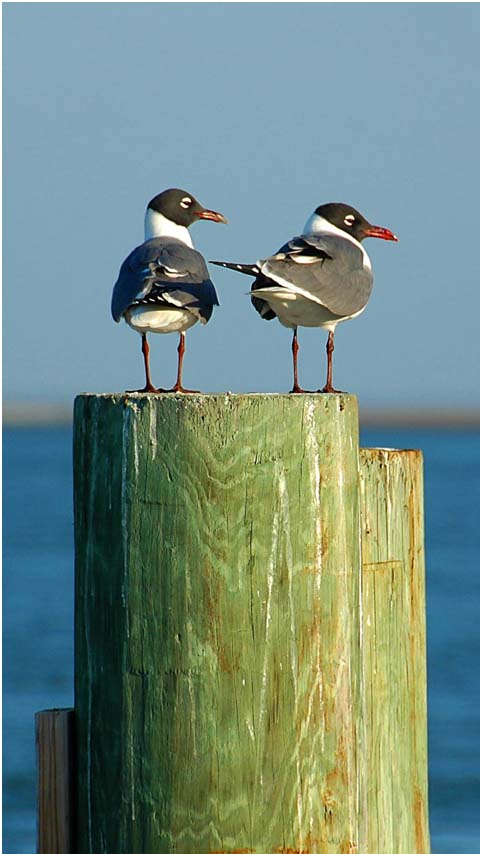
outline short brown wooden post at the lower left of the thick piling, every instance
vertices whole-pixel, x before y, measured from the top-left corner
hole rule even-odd
[[[35,715],[37,854],[74,854],[75,736],[73,709]]]

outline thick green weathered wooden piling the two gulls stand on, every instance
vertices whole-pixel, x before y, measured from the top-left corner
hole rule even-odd
[[[79,854],[366,850],[355,398],[82,395],[75,529]]]

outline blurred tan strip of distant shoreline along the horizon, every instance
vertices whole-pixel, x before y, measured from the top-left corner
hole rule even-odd
[[[73,420],[72,403],[4,403],[4,427],[61,427]],[[480,429],[480,409],[363,407],[361,427]]]

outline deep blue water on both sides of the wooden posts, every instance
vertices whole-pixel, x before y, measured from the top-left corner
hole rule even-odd
[[[425,457],[433,854],[480,852],[480,433],[365,430]],[[35,851],[33,717],[73,705],[71,431],[4,432],[5,854]],[[381,854],[381,852],[378,852]]]

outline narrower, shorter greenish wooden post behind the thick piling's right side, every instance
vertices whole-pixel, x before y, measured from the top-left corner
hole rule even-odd
[[[422,455],[360,463],[365,851],[428,854]]]

